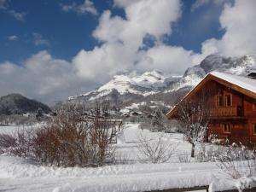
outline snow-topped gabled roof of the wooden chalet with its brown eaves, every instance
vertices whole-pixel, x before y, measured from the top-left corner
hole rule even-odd
[[[219,84],[224,84],[225,86],[230,87],[233,90],[241,92],[246,96],[250,96],[256,99],[256,79],[250,79],[228,73],[212,72],[208,73],[207,76],[204,79],[202,79],[199,84],[195,85],[195,87],[192,90],[190,90],[186,96],[183,97],[181,102],[177,103],[177,105],[174,108],[172,108],[172,110],[169,113],[167,113],[168,119],[172,118],[172,116],[174,115],[174,113],[177,112],[179,106],[182,104],[184,100],[188,99],[193,92],[199,90],[201,86],[210,79],[218,82]]]

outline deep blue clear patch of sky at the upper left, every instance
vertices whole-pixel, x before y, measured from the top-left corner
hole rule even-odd
[[[79,49],[92,49],[97,42],[90,33],[97,25],[97,16],[65,13],[61,11],[61,2],[65,3],[52,0],[11,1],[9,7],[26,15],[24,20],[16,20],[12,15],[0,12],[0,61],[20,62],[41,49],[71,59]],[[101,6],[107,8],[108,3]],[[40,34],[49,44],[34,44],[34,33]],[[8,37],[13,35],[18,39],[9,41]]]

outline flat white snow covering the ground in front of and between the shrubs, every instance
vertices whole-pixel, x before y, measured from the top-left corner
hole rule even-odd
[[[37,126],[34,126],[35,128]],[[26,128],[26,127],[25,127]],[[32,128],[32,127],[28,127]],[[12,134],[20,127],[0,127],[1,133]],[[120,160],[126,165],[96,168],[58,168],[39,166],[30,160],[0,155],[0,191],[50,192],[135,192],[203,186],[215,181],[215,189],[232,189],[236,181],[226,182],[215,163],[180,163],[178,154],[189,154],[189,143],[183,135],[165,134],[166,141],[177,145],[177,153],[168,163],[141,163],[138,158],[138,135],[148,139],[160,133],[140,130],[138,124],[126,124],[116,144]],[[221,178],[221,179],[220,179]],[[220,179],[220,180],[219,180]],[[218,181],[219,180],[219,181]]]

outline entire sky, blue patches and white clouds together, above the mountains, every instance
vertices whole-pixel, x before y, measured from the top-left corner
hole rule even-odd
[[[52,103],[123,72],[256,53],[255,0],[0,0],[0,96]]]

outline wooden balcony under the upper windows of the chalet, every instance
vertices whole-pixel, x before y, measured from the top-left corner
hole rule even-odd
[[[209,114],[211,118],[242,117],[243,108],[241,107],[212,108],[210,109]]]

